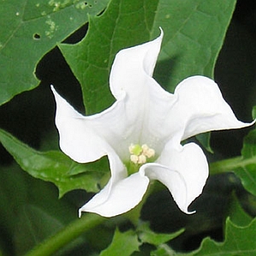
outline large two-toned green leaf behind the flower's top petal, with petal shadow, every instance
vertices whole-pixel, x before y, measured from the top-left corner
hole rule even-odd
[[[235,0],[113,0],[100,17],[90,17],[79,44],[60,44],[62,54],[82,86],[87,114],[113,102],[108,76],[114,55],[165,31],[155,78],[173,90],[194,74],[213,75]]]

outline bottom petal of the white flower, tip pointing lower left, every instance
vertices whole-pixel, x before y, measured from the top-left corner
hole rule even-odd
[[[142,201],[148,188],[148,177],[140,173],[111,184],[111,181],[89,202],[79,209],[81,212],[95,212],[103,217],[113,217],[130,211]]]

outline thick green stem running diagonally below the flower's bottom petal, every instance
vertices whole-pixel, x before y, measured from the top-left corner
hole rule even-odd
[[[61,247],[67,245],[70,241],[80,236],[82,233],[101,224],[107,218],[87,213],[84,217],[78,218],[71,224],[68,224],[63,230],[60,230],[54,236],[34,247],[32,251],[26,253],[26,256],[47,256],[57,252]]]

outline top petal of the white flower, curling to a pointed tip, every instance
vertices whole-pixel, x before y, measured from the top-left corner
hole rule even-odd
[[[115,56],[109,82],[116,99],[125,91],[129,97],[136,97],[140,102],[142,92],[148,90],[146,82],[152,78],[163,35],[161,30],[160,37],[145,44],[122,49]]]

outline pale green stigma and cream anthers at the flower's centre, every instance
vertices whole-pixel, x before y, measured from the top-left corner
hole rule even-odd
[[[131,162],[138,165],[143,165],[149,158],[154,157],[154,149],[149,148],[147,144],[143,144],[142,146],[139,144],[131,144],[129,152],[131,154]]]

